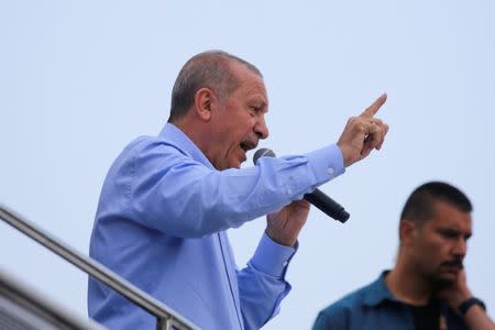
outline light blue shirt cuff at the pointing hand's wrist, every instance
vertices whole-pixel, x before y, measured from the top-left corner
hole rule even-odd
[[[317,182],[328,182],[345,172],[343,155],[337,144],[306,154]]]

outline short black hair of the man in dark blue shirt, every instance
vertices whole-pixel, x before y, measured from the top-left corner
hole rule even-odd
[[[420,224],[435,216],[435,202],[443,201],[463,212],[471,212],[473,206],[460,189],[441,182],[430,182],[416,188],[404,206],[402,220],[410,220]]]

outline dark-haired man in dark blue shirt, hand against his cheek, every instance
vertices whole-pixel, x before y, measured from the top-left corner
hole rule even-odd
[[[463,271],[471,211],[468,197],[449,184],[418,187],[400,216],[394,270],[323,309],[312,329],[495,329]]]

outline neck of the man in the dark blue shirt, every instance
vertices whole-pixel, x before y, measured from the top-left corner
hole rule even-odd
[[[395,268],[388,273],[385,283],[392,294],[403,302],[409,305],[427,305],[431,298],[431,285],[421,278],[410,265],[397,261]]]

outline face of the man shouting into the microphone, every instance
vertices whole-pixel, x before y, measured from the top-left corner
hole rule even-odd
[[[208,158],[217,169],[240,168],[246,151],[255,148],[260,139],[268,136],[265,113],[268,107],[263,79],[242,64],[232,64],[240,86],[212,113]]]

